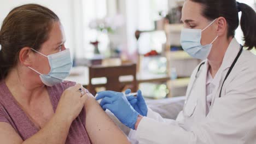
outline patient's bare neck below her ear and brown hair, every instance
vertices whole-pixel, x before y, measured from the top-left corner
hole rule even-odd
[[[18,68],[14,68],[5,78],[13,97],[22,105],[30,105],[31,101],[37,99],[45,90],[44,85],[36,83],[35,75],[27,72],[21,73]]]

